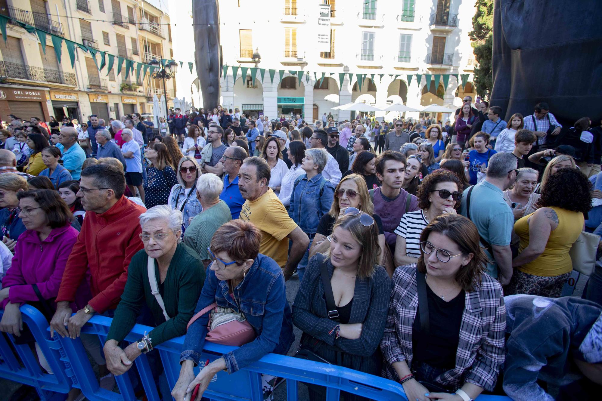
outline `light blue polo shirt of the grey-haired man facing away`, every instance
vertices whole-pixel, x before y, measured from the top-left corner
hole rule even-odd
[[[464,199],[462,199],[460,207],[460,213],[465,217],[468,217],[466,210],[468,188],[464,190]],[[498,246],[510,244],[514,228],[514,214],[504,201],[504,193],[491,182],[483,180],[474,185],[470,194],[470,220],[477,226],[483,240]],[[486,273],[497,278],[497,263],[495,263],[493,255],[489,254],[487,250],[485,250],[485,255],[492,261],[487,264]]]

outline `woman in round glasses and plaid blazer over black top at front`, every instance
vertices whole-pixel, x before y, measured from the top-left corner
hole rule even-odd
[[[484,272],[479,232],[464,216],[437,217],[420,246],[418,263],[393,275],[380,342],[385,377],[409,400],[476,399],[493,390],[504,362],[501,285]]]

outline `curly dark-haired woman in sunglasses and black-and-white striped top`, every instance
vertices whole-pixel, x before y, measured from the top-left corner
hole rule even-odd
[[[458,176],[449,170],[437,170],[424,178],[416,195],[420,210],[404,214],[395,230],[395,266],[418,262],[420,233],[437,216],[456,214],[462,199],[462,188]]]

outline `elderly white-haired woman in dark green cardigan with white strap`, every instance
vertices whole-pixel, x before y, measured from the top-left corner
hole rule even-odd
[[[140,226],[144,249],[129,264],[128,281],[104,346],[107,368],[114,375],[125,373],[141,353],[185,334],[205,282],[199,255],[180,242],[181,211],[155,206],[140,215]],[[159,296],[152,294],[152,288],[158,288]],[[144,303],[151,310],[155,328],[121,349],[119,343],[134,327]]]

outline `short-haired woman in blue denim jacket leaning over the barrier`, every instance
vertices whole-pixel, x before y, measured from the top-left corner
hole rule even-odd
[[[259,254],[261,232],[250,222],[232,220],[225,223],[211,239],[209,255],[213,262],[207,269],[203,290],[195,313],[211,303],[243,312],[255,330],[255,340],[222,355],[203,367],[194,377],[205,344],[209,312],[188,328],[180,362],[182,368],[172,391],[176,401],[183,401],[187,389],[200,383],[199,396],[220,370],[234,373],[267,353],[286,355],[293,343],[293,321],[287,302],[282,269],[268,256]]]

